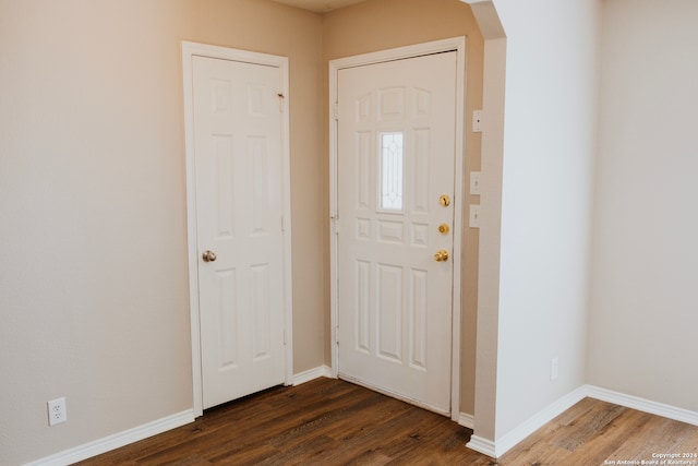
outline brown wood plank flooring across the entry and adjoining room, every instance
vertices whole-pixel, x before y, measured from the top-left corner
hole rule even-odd
[[[466,447],[471,433],[397,399],[318,379],[209,409],[191,425],[80,464],[597,466],[698,453],[698,427],[593,399],[498,462]]]

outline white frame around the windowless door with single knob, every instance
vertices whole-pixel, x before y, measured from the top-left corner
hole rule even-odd
[[[186,162],[186,230],[189,258],[189,310],[192,337],[192,383],[194,416],[203,414],[203,381],[201,368],[201,326],[198,308],[198,249],[196,235],[196,172],[194,164],[194,106],[192,60],[194,57],[217,58],[231,61],[276,67],[281,73],[281,195],[284,196],[284,340],[286,342],[286,384],[293,382],[292,296],[291,296],[291,190],[289,139],[289,85],[288,58],[256,53],[205,44],[182,41],[182,77],[184,88],[184,158]]]

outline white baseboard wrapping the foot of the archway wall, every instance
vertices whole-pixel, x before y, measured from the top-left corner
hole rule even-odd
[[[483,453],[493,458],[498,458],[516,444],[528,438],[531,433],[535,432],[541,427],[545,426],[551,420],[555,419],[567,409],[571,408],[575,404],[579,403],[587,396],[585,386],[580,386],[574,392],[568,393],[556,402],[547,405],[542,410],[530,417],[528,420],[520,423],[514,430],[510,430],[496,441],[490,441],[477,435],[472,435],[470,442],[466,444],[476,452]]]

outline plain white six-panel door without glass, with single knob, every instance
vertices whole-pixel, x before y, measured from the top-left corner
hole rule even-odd
[[[192,82],[208,408],[286,378],[282,84],[276,67],[196,56]]]

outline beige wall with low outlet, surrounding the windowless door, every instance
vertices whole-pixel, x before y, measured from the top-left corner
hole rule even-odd
[[[294,369],[323,363],[321,33],[261,0],[0,0],[1,464],[192,406],[182,39],[290,58]]]

